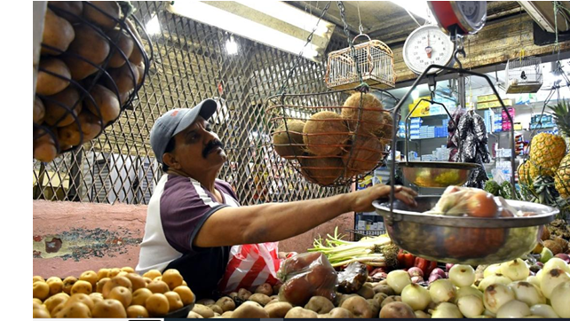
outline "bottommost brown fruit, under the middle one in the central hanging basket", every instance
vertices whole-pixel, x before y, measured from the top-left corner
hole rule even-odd
[[[338,157],[307,157],[301,159],[301,173],[308,181],[315,184],[333,184],[343,172],[343,160]]]

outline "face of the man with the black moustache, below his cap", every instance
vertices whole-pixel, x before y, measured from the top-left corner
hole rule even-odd
[[[218,135],[211,131],[210,123],[200,116],[187,129],[176,134],[174,139],[175,147],[171,153],[174,161],[169,166],[187,175],[195,176],[195,173],[212,168],[219,170],[227,159]]]

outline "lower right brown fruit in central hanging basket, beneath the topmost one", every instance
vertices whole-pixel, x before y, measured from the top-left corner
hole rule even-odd
[[[374,137],[357,137],[351,150],[352,154],[348,151],[343,155],[347,177],[368,173],[376,168],[378,161],[382,160],[384,145]]]

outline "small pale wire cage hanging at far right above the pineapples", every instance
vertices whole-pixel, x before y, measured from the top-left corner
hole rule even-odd
[[[539,57],[522,57],[507,61],[508,94],[534,93],[542,87],[542,60]]]

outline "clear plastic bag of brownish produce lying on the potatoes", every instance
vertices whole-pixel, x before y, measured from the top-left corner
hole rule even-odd
[[[330,301],[335,299],[336,270],[320,252],[297,254],[285,260],[278,276],[283,282],[279,289],[280,301],[305,306],[316,295]]]

